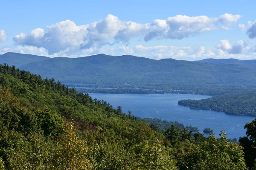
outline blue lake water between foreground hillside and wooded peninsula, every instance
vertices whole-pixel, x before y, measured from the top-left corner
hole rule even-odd
[[[178,105],[183,99],[205,99],[211,96],[192,94],[90,94],[93,98],[104,99],[114,108],[132,112],[141,118],[159,118],[177,121],[186,125],[197,126],[203,133],[205,127],[211,128],[218,137],[220,130],[225,130],[229,139],[245,136],[244,125],[255,117],[234,116],[222,112],[193,110]]]

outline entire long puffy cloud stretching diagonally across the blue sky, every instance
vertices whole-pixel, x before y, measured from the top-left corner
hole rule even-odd
[[[204,31],[231,29],[240,17],[238,14],[224,14],[219,17],[177,15],[166,20],[141,24],[122,21],[109,14],[103,20],[82,26],[77,26],[70,20],[62,21],[46,29],[34,29],[29,34],[20,33],[13,40],[19,45],[45,48],[51,55],[60,51],[100,48],[118,42],[128,44],[134,37],[142,37],[145,41],[183,39]]]

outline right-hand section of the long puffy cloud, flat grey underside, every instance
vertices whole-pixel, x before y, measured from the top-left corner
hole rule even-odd
[[[154,20],[150,24],[149,32],[144,40],[158,39],[183,39],[200,34],[204,31],[216,29],[230,29],[240,15],[224,14],[219,17],[197,16],[189,17],[177,15],[168,17],[167,20]]]

